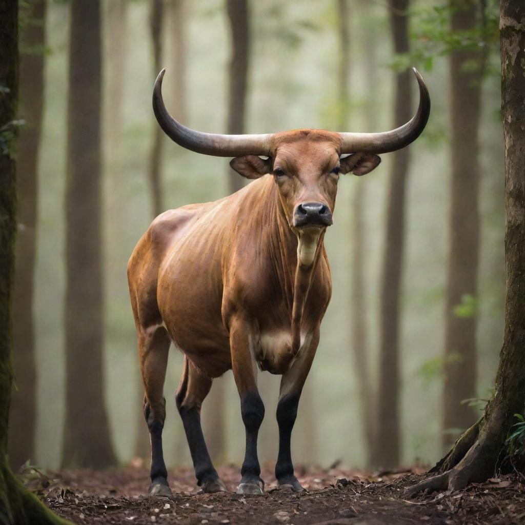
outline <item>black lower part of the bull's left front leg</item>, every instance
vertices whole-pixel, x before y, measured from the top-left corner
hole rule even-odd
[[[259,427],[264,418],[264,404],[257,391],[249,392],[241,398],[240,411],[243,416],[243,423],[246,429],[246,454],[243,461],[243,467],[240,470],[243,479],[241,484],[255,483],[264,486],[260,479],[260,465],[257,457],[257,436]]]

